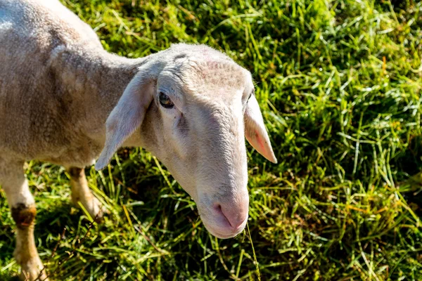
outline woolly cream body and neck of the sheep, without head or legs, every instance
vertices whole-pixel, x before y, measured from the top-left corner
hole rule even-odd
[[[0,0],[0,41],[1,155],[93,164],[103,140],[92,136],[141,60],[104,51],[58,1]]]

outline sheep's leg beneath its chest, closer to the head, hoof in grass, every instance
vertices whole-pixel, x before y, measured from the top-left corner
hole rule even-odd
[[[78,202],[81,202],[82,206],[87,209],[91,218],[96,218],[96,221],[101,221],[103,214],[106,212],[106,208],[102,206],[89,189],[84,169],[70,167],[68,168],[68,172],[70,174],[73,204],[78,206]]]

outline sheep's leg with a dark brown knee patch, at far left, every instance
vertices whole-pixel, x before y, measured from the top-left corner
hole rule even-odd
[[[37,214],[34,197],[23,174],[23,162],[2,162],[0,158],[0,182],[16,223],[16,247],[13,255],[22,268],[23,280],[47,280],[46,271],[39,259],[34,240],[34,220]]]

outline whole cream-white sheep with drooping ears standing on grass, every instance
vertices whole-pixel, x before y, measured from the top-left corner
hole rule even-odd
[[[212,235],[241,233],[244,136],[276,163],[248,70],[205,45],[136,59],[108,53],[58,0],[0,0],[0,41],[0,184],[27,280],[46,279],[23,173],[30,159],[65,166],[72,200],[101,217],[84,168],[103,169],[122,146],[146,148],[193,198]]]

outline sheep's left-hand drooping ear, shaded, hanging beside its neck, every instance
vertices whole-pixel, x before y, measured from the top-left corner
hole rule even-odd
[[[122,97],[108,116],[106,144],[95,164],[97,171],[104,169],[114,153],[136,129],[141,126],[146,110],[153,100],[155,79],[138,72],[124,90]]]

